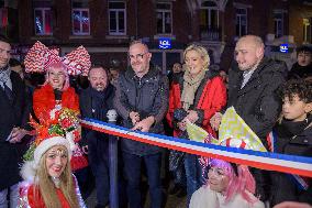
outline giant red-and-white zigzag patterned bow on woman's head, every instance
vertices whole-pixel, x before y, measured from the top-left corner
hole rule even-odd
[[[91,61],[83,46],[79,46],[64,57],[59,57],[58,53],[58,50],[49,50],[37,41],[25,56],[25,70],[27,73],[43,73],[51,64],[62,62],[69,75],[88,75]]]

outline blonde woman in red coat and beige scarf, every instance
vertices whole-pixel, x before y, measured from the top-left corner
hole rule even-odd
[[[174,78],[169,95],[167,120],[174,136],[188,138],[186,123],[202,127],[215,135],[210,118],[226,103],[226,89],[218,73],[209,70],[210,58],[204,47],[190,45],[183,53],[186,72]],[[201,167],[196,155],[186,154],[188,201],[203,184]]]

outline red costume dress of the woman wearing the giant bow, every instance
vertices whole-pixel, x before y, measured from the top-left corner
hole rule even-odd
[[[79,110],[79,100],[75,89],[69,87],[68,89],[64,90],[62,94],[60,103],[56,102],[54,89],[48,84],[34,91],[33,109],[37,118],[49,118],[51,111],[54,110],[57,105],[60,105],[62,108]],[[78,142],[79,140],[80,135],[76,135],[75,142]],[[73,171],[88,166],[88,161],[80,147],[73,152],[70,166]]]

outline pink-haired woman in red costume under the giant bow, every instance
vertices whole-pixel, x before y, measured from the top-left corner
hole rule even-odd
[[[66,67],[58,62],[48,66],[45,84],[34,91],[33,109],[35,116],[41,120],[55,117],[55,113],[62,108],[78,111],[79,100],[75,89],[69,87],[69,76]],[[79,140],[80,135],[76,134],[74,141],[77,143]],[[74,150],[70,163],[74,172],[88,166],[88,162],[78,144]]]

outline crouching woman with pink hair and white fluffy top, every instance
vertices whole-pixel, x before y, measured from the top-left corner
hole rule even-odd
[[[191,198],[190,208],[264,208],[255,194],[255,179],[245,165],[212,160],[208,183]]]

